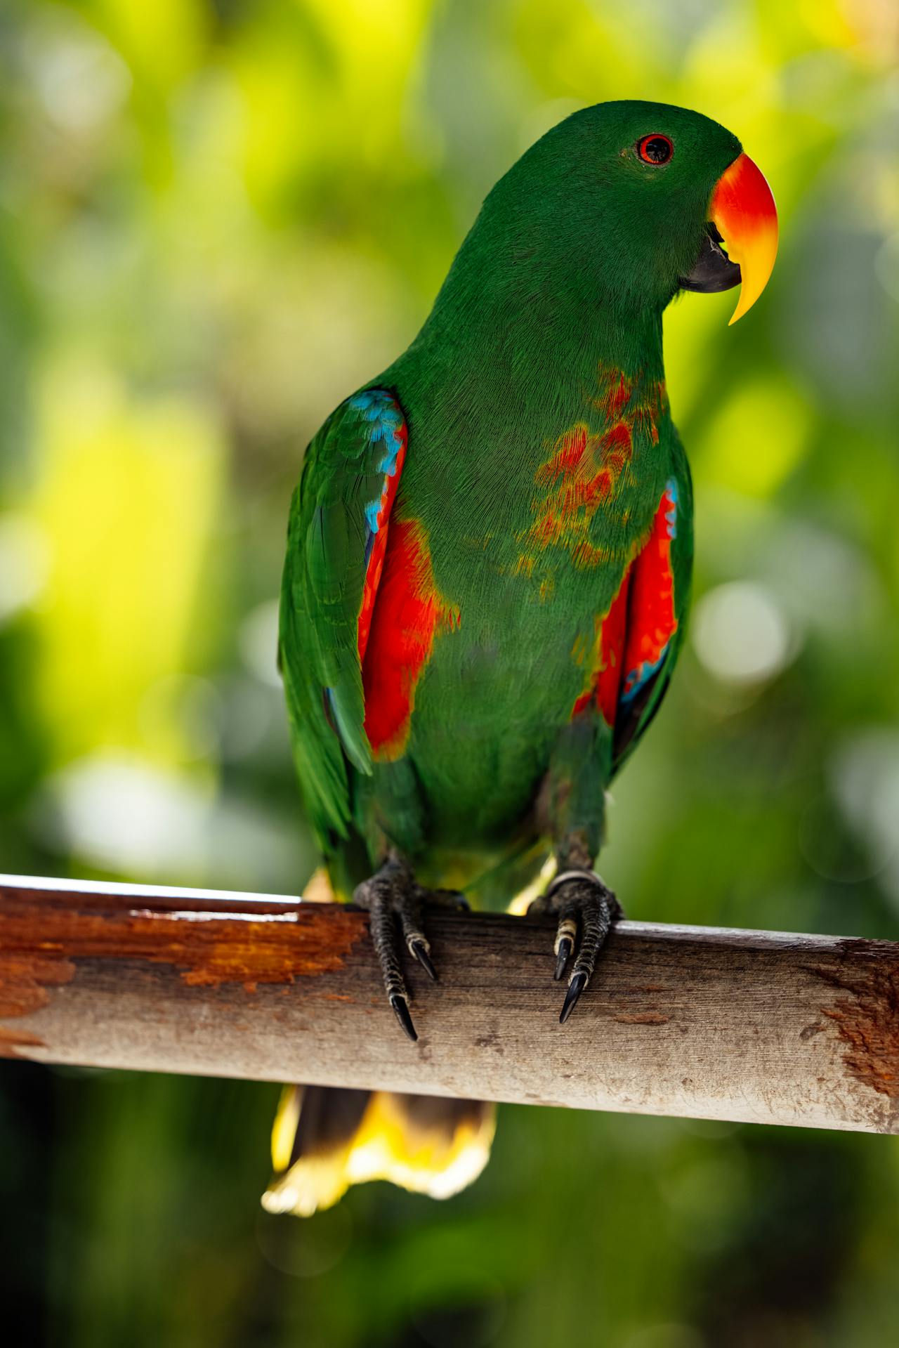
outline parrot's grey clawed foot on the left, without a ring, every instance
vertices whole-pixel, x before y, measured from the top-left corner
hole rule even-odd
[[[431,948],[422,930],[422,907],[426,903],[468,907],[454,890],[425,890],[416,884],[411,867],[399,856],[390,856],[380,871],[356,887],[353,902],[368,909],[375,953],[384,976],[387,1000],[394,1008],[403,1031],[418,1039],[408,1011],[410,995],[400,965],[400,942],[396,923],[408,953],[418,960],[425,973],[437,983],[437,969],[431,961]]]

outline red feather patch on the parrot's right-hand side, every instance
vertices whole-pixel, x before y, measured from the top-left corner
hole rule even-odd
[[[678,627],[671,569],[677,508],[677,483],[671,479],[648,539],[627,568],[609,608],[596,619],[589,671],[571,708],[573,717],[596,702],[605,724],[615,725],[619,706],[636,697],[664,661]],[[582,663],[586,652],[576,646],[573,656]]]

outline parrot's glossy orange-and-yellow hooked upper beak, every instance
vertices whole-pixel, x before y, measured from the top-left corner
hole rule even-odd
[[[728,257],[740,267],[740,299],[731,318],[736,324],[767,286],[778,256],[778,209],[764,174],[748,155],[735,159],[718,179],[709,217]]]

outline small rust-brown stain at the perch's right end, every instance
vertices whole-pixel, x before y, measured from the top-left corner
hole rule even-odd
[[[852,957],[852,972],[840,965],[818,967],[825,983],[850,993],[822,1007],[844,1042],[842,1061],[852,1076],[899,1104],[899,957],[895,946],[846,940],[841,952]]]

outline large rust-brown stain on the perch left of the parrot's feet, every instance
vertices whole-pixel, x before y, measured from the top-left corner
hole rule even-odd
[[[61,891],[0,891],[0,1016],[38,1011],[77,961],[170,965],[189,987],[292,983],[342,968],[365,936],[357,913],[298,909],[259,918],[210,915],[202,906],[127,909]]]

